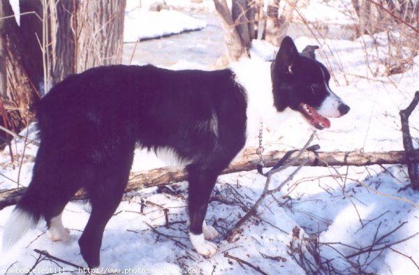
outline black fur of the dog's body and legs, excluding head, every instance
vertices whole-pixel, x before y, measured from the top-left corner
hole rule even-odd
[[[102,233],[122,198],[138,142],[169,147],[192,161],[186,167],[190,230],[202,233],[216,177],[245,142],[246,96],[233,79],[230,70],[153,66],[92,68],[67,77],[36,105],[41,145],[18,207],[48,221],[84,188],[92,210],[79,243],[84,260],[97,266]]]

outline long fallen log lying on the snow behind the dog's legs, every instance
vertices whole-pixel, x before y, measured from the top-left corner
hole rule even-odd
[[[285,151],[270,151],[263,155],[265,167],[272,167],[279,159],[286,154]],[[294,152],[288,161],[293,160],[298,154]],[[386,152],[361,152],[361,151],[332,151],[332,152],[318,152],[318,166],[365,166],[374,164],[406,164],[406,153],[404,151],[386,151]],[[294,163],[294,166],[299,166],[303,161],[308,160],[306,166],[313,165],[316,156],[313,152],[306,151],[303,156]],[[222,174],[230,174],[234,172],[256,170],[259,157],[257,154],[243,154],[242,157],[237,158]],[[419,151],[416,150],[413,154],[413,161],[419,162]],[[179,181],[186,180],[186,172],[182,169],[173,168],[158,168],[147,171],[131,172],[126,192],[135,189],[149,188],[153,186],[161,186],[166,184],[173,184]],[[15,205],[24,193],[26,188],[15,188],[5,191],[0,191],[0,209],[9,205]],[[80,190],[73,197],[73,200],[85,199],[86,193]]]

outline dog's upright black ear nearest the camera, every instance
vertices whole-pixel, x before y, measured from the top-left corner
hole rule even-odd
[[[281,70],[286,70],[288,73],[292,73],[293,66],[297,63],[300,54],[295,47],[293,39],[289,36],[285,36],[279,47],[277,58],[275,59],[275,66]]]

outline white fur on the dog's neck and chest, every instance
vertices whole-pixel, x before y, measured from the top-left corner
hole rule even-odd
[[[242,59],[230,66],[230,70],[235,73],[235,81],[247,93],[247,142],[257,137],[260,122],[270,128],[281,120],[274,107],[270,65],[271,62]]]

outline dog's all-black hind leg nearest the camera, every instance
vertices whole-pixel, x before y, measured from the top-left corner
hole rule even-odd
[[[105,151],[108,148],[105,147]],[[134,142],[132,146],[124,144],[122,147],[115,147],[115,150],[102,152],[106,154],[103,161],[91,168],[95,182],[85,186],[89,193],[91,214],[78,241],[82,257],[89,268],[101,265],[103,231],[124,194],[133,161],[133,149]]]

